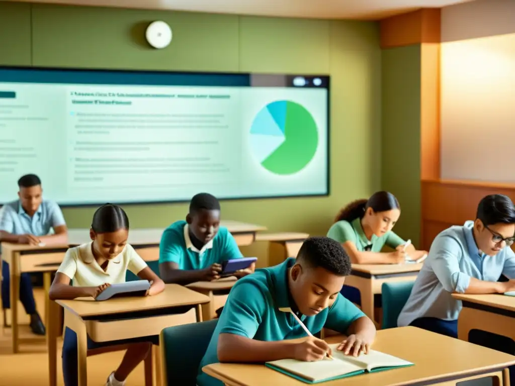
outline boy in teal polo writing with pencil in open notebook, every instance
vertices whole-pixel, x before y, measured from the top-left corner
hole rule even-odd
[[[346,334],[338,346],[345,354],[368,352],[375,326],[354,304],[340,295],[351,272],[349,256],[327,237],[304,241],[297,259],[260,269],[238,280],[227,299],[199,367],[199,386],[222,383],[202,372],[216,362],[264,363],[293,358],[322,360],[331,349],[323,340],[307,337],[290,308],[317,334],[322,327]]]

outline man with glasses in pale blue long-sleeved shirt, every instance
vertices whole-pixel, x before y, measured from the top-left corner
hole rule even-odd
[[[475,221],[452,226],[433,241],[398,325],[415,326],[457,338],[461,302],[452,293],[504,293],[515,290],[515,208],[503,195],[489,195]],[[473,343],[515,354],[515,342],[473,330]],[[515,367],[510,369],[515,384]]]

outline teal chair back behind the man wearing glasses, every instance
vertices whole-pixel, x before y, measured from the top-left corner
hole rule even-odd
[[[409,294],[415,282],[383,283],[383,326],[382,328],[397,327],[397,318],[408,301]]]

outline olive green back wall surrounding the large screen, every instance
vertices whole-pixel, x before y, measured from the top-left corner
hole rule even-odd
[[[174,30],[166,49],[144,41],[154,20]],[[0,65],[329,74],[331,196],[224,201],[222,215],[271,231],[325,234],[341,205],[381,187],[382,70],[374,22],[0,1]],[[184,218],[187,206],[126,209],[134,227],[165,227]],[[64,209],[70,227],[88,227],[92,213]]]

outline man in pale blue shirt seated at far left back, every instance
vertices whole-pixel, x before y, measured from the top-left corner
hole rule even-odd
[[[19,244],[66,244],[68,235],[64,217],[53,201],[43,200],[41,180],[26,174],[18,180],[19,200],[6,203],[0,209],[0,240]],[[53,230],[54,234],[50,235]],[[9,265],[2,262],[2,306],[10,308]],[[30,275],[20,277],[20,301],[30,315],[30,328],[45,335],[45,326],[36,310]],[[5,323],[5,321],[4,321]]]

